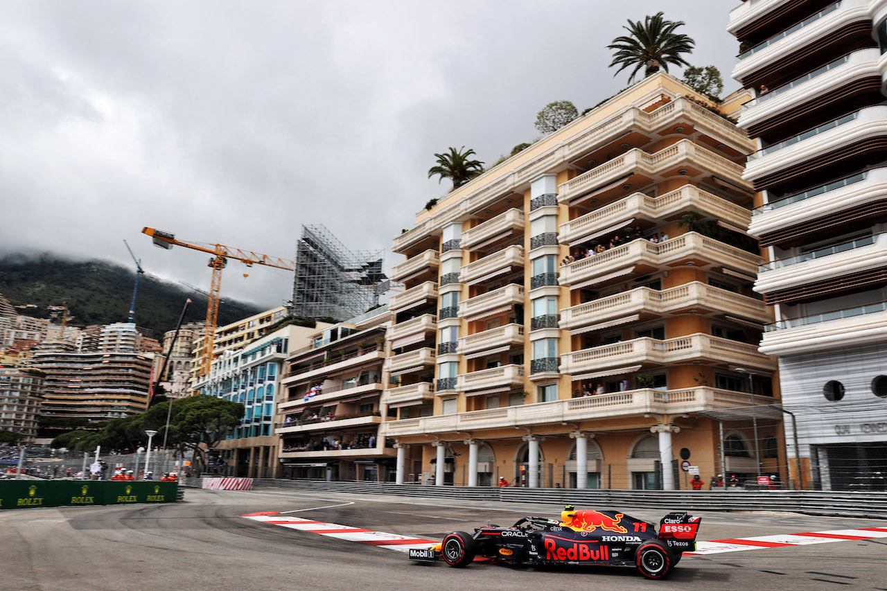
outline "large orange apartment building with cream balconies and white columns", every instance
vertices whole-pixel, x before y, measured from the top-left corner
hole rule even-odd
[[[396,237],[381,433],[398,482],[407,453],[436,485],[671,489],[682,461],[706,479],[778,468],[753,145],[724,115],[749,98],[711,108],[649,76]]]

